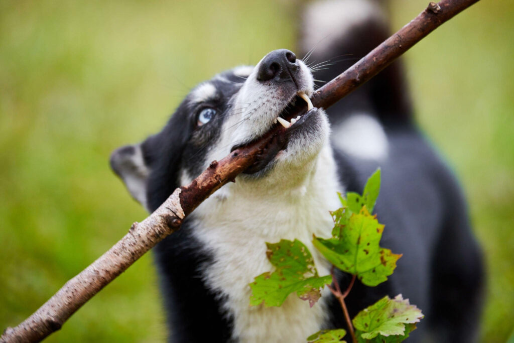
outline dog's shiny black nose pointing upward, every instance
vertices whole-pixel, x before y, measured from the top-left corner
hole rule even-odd
[[[262,60],[257,73],[257,80],[262,82],[271,79],[277,81],[291,80],[297,69],[296,55],[292,51],[287,49],[274,50]]]

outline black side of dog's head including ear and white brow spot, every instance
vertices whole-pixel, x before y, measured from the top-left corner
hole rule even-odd
[[[230,100],[241,88],[252,67],[237,67],[199,84],[180,103],[161,132],[139,145],[119,148],[111,166],[134,198],[149,211],[155,210],[178,185],[179,170],[191,175],[203,170],[207,151],[219,137],[230,109]],[[199,115],[215,112],[205,124]]]

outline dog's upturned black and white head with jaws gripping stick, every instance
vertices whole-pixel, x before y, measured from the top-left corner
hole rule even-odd
[[[160,133],[114,151],[111,166],[132,196],[152,211],[212,160],[258,139],[279,121],[285,132],[238,177],[239,183],[255,187],[259,180],[262,189],[298,184],[328,141],[328,122],[318,109],[290,121],[283,118],[313,89],[305,63],[289,50],[274,50],[255,67],[236,67],[196,86]]]

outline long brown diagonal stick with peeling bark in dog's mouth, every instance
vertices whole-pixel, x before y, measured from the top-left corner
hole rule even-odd
[[[390,38],[352,67],[313,94],[316,107],[325,109],[350,94],[377,75],[402,53],[423,39],[439,25],[479,0],[443,0],[429,6]],[[296,109],[305,111],[305,105]],[[296,116],[296,114],[295,114]],[[280,127],[264,137],[232,151],[201,173],[187,186],[177,188],[155,212],[141,223],[134,223],[125,236],[80,274],[70,279],[41,308],[14,328],[7,328],[0,342],[40,341],[59,330],[64,322],[105,285],[158,242],[180,228],[183,219],[217,189],[234,180],[251,166]]]

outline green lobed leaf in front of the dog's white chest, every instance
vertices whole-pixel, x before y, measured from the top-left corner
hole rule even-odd
[[[276,270],[261,274],[250,283],[250,305],[280,306],[289,294],[296,292],[300,299],[309,301],[310,307],[314,306],[321,297],[320,288],[330,284],[332,277],[318,276],[310,251],[299,240],[266,245],[266,255]]]

